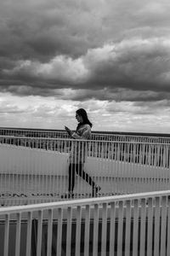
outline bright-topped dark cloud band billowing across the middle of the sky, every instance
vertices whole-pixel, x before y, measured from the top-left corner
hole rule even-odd
[[[46,63],[13,61],[12,67],[2,68],[0,84],[26,85],[33,90],[39,89],[40,94],[41,91],[50,89],[93,88],[95,96],[91,97],[99,99],[99,91],[106,88],[103,97],[105,99],[107,96],[108,100],[111,100],[111,90],[122,88],[127,90],[129,100],[133,100],[135,91],[139,91],[138,96],[142,98],[148,90],[156,93],[170,90],[169,43],[170,40],[164,38],[131,39],[119,44],[112,43],[98,49],[89,49],[87,55],[77,59],[57,55]],[[141,94],[141,91],[146,93]],[[86,94],[88,91],[84,97]],[[122,96],[124,100],[127,98],[125,92]],[[161,93],[161,96],[165,94]],[[158,96],[152,95],[152,99],[154,97]]]

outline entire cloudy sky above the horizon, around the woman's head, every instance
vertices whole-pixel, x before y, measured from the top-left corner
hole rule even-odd
[[[1,0],[0,126],[170,132],[169,0]]]

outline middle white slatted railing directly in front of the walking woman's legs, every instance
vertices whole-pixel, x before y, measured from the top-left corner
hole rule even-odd
[[[0,137],[0,204],[63,200],[72,147],[76,148],[78,162],[85,153],[88,155],[84,171],[101,187],[98,196],[170,187],[167,143]],[[92,187],[76,175],[73,197],[92,196]]]

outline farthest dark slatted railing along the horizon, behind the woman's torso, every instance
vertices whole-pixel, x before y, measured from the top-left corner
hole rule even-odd
[[[0,136],[14,137],[53,137],[68,138],[68,134],[64,130],[43,130],[43,129],[19,129],[0,127]],[[116,132],[93,131],[93,140],[103,141],[120,141],[120,142],[140,142],[140,143],[170,143],[170,137],[166,136],[148,136],[148,135],[129,135],[117,134]]]

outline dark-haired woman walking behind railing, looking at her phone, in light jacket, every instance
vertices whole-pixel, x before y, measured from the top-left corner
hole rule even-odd
[[[92,123],[88,119],[88,114],[86,110],[80,108],[76,112],[76,119],[78,122],[77,131],[73,132],[68,127],[65,126],[65,131],[68,132],[71,138],[77,140],[89,140],[91,138],[91,127]],[[75,175],[79,175],[82,177],[89,185],[92,186],[92,194],[95,196],[98,191],[101,189],[94,183],[92,177],[88,175],[88,173],[84,172],[83,165],[87,156],[87,143],[81,143],[79,141],[73,142],[71,147],[71,154],[69,157],[70,165],[69,165],[69,188],[68,195],[65,197],[74,197],[73,190],[75,186]]]

